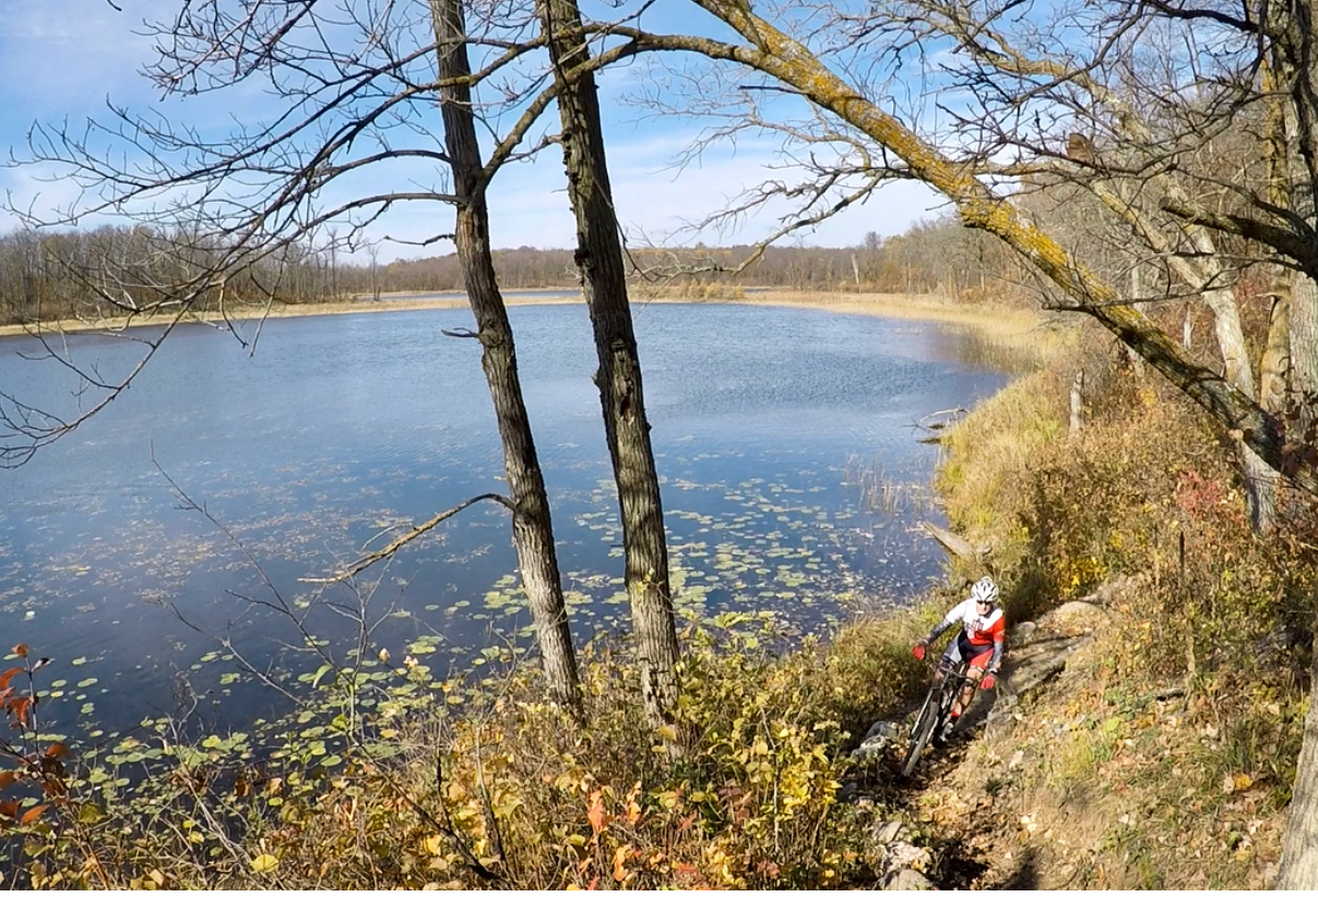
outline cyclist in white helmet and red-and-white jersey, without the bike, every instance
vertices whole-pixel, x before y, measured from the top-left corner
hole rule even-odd
[[[970,699],[975,694],[975,682],[982,689],[991,689],[998,680],[1002,652],[1007,644],[1007,620],[1002,615],[1002,607],[998,606],[998,586],[992,577],[986,576],[974,584],[970,587],[970,598],[948,611],[942,622],[933,627],[933,632],[920,639],[911,653],[916,656],[916,660],[924,660],[929,643],[956,623],[961,623],[961,634],[942,653],[933,681],[936,685],[942,682],[952,668],[962,660],[969,661],[966,676],[970,680],[952,705],[952,718],[938,732],[938,740],[948,739],[961,713],[970,706]]]

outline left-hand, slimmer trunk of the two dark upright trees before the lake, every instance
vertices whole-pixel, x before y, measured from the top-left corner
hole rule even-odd
[[[513,541],[517,545],[522,587],[531,606],[544,677],[554,699],[580,715],[577,664],[554,547],[550,501],[522,399],[513,328],[494,279],[489,211],[484,188],[478,183],[481,158],[476,142],[476,121],[471,87],[464,80],[471,74],[471,63],[463,42],[465,25],[460,3],[461,0],[431,0],[443,84],[440,99],[444,144],[453,170],[453,191],[459,199],[455,244],[468,302],[478,328],[481,366],[489,382],[500,439],[503,443],[503,469],[517,508],[513,515]]]

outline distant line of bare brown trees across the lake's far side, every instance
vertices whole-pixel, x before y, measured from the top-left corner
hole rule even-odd
[[[770,246],[763,258],[733,273],[753,246],[631,249],[631,279],[656,290],[709,292],[720,287],[775,287],[866,292],[945,294],[960,298],[1010,292],[1019,262],[1003,245],[954,217],[921,221],[882,238],[867,233],[855,246]],[[378,263],[333,248],[286,248],[216,279],[217,254],[204,237],[145,225],[94,231],[14,229],[0,236],[0,323],[101,319],[169,300],[167,290],[191,271],[211,278],[192,303],[199,311],[278,302],[318,303],[389,292],[461,291],[455,253]],[[569,249],[494,250],[505,288],[577,286]],[[95,281],[88,271],[104,277]],[[113,274],[109,274],[113,271]]]

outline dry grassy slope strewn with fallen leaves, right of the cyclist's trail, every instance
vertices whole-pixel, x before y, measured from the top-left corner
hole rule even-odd
[[[970,825],[995,832],[986,852],[1029,856],[1041,889],[1269,886],[1301,694],[1253,674],[1207,690],[1118,676],[1130,638],[1118,628],[1075,655],[971,751],[952,786],[995,800]]]

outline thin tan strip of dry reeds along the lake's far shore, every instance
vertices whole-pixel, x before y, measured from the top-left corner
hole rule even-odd
[[[568,290],[552,287],[510,290],[505,294],[505,304],[514,306],[569,306],[580,304],[577,295],[563,295]],[[544,294],[544,295],[535,295]],[[633,296],[631,304],[645,307],[660,304],[729,304],[729,306],[776,306],[788,308],[818,308],[841,315],[873,315],[905,320],[938,321],[962,324],[1010,337],[1037,328],[1044,316],[1032,310],[995,304],[961,304],[949,299],[923,294],[896,292],[803,292],[796,290],[764,290],[739,296]],[[372,315],[395,311],[430,311],[440,308],[467,308],[465,292],[398,292],[382,294],[380,299],[356,299],[348,302],[308,303],[297,306],[241,307],[228,315],[231,320],[258,320],[278,317],[310,317],[316,315]],[[224,316],[219,313],[186,315],[182,323],[217,323]],[[128,319],[107,317],[101,320],[66,319],[42,321],[40,324],[0,325],[0,337],[33,336],[40,333],[88,333],[117,332],[132,327],[152,327],[169,324],[171,316]]]

